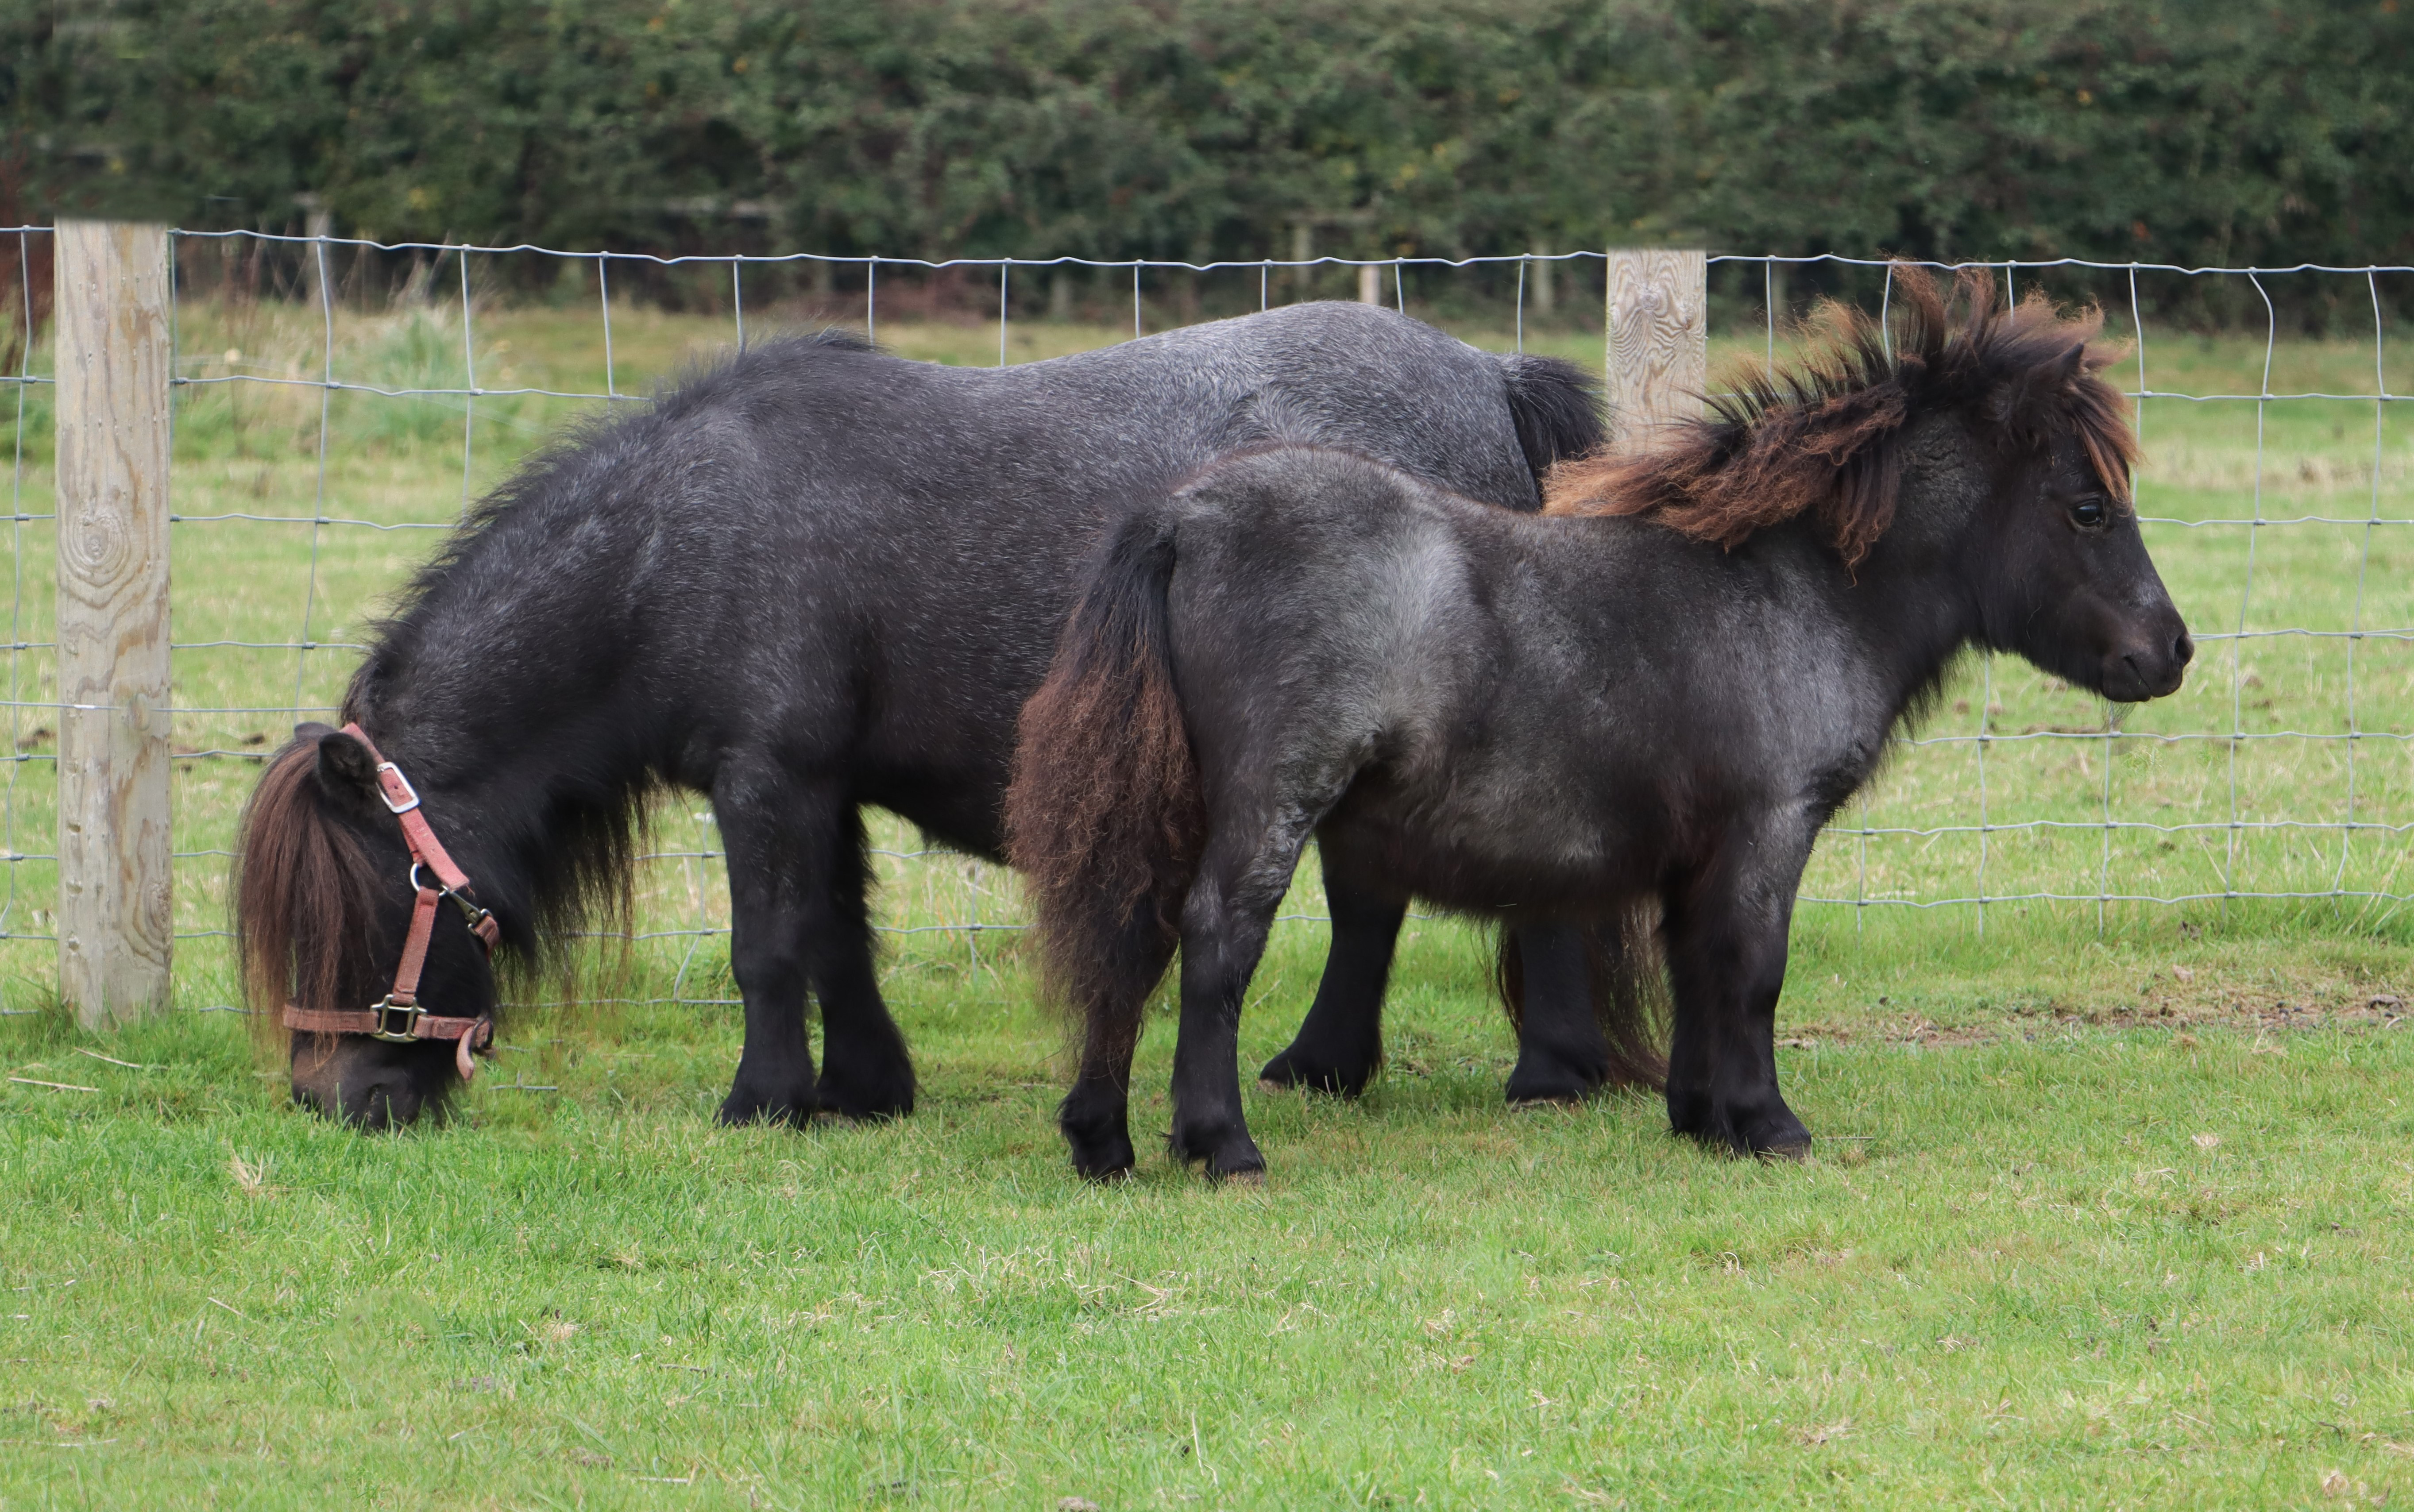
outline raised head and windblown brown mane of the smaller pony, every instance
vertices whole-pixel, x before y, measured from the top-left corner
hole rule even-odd
[[[2013,309],[1984,271],[1897,266],[1893,328],[1825,307],[1813,355],[1748,377],[1702,420],[1550,478],[1555,514],[1634,514],[1736,548],[1808,519],[1847,570],[1938,568],[1970,633],[2136,703],[2180,686],[2194,642],[2132,507],[2129,401],[2091,345],[2100,314]]]

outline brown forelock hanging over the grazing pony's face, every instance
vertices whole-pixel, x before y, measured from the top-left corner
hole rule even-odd
[[[285,1043],[287,1002],[333,1010],[377,998],[362,944],[379,935],[377,872],[328,819],[316,783],[319,744],[295,739],[270,756],[234,841],[234,949],[253,1031]]]

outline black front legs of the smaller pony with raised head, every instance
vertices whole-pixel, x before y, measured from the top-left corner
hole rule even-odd
[[[1777,995],[1786,983],[1786,930],[1808,843],[1731,838],[1712,865],[1675,882],[1668,906],[1668,1123],[1738,1155],[1803,1155],[1810,1130],[1777,1092]],[[1791,865],[1779,857],[1791,853]]]

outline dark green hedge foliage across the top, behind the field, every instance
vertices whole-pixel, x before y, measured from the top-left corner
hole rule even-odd
[[[970,256],[2414,256],[2397,0],[5,0],[24,215]]]

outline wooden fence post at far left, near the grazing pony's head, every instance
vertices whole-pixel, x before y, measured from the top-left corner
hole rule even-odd
[[[87,1029],[169,1002],[169,242],[60,220],[58,995]]]

